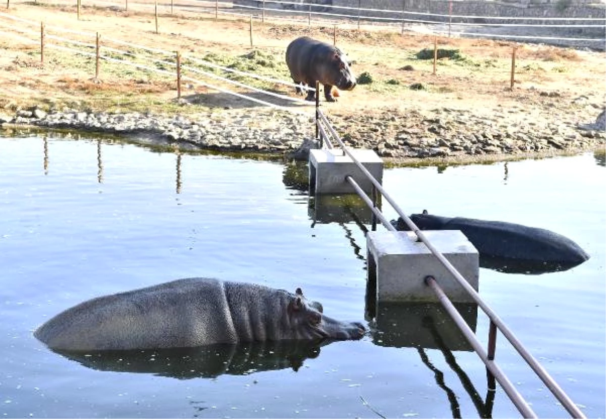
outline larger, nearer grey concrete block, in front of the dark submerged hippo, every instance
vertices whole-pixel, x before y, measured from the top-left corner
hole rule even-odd
[[[425,236],[478,291],[478,251],[459,230],[424,231]],[[435,277],[453,303],[471,303],[470,295],[410,231],[367,234],[368,281],[376,282],[376,302],[437,302],[425,285]]]

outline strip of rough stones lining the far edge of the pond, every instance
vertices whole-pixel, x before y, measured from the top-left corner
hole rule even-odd
[[[556,110],[557,111],[557,110]],[[554,114],[524,109],[490,111],[439,108],[431,111],[377,110],[328,114],[345,144],[371,148],[391,161],[410,159],[491,160],[503,156],[576,153],[606,147],[606,112],[579,104],[576,112]],[[596,120],[595,116],[599,114]],[[252,108],[217,109],[188,116],[110,114],[39,108],[0,114],[2,127],[25,125],[110,133],[148,142],[200,150],[284,154],[306,159],[314,147],[313,108],[309,115]],[[303,150],[301,147],[303,145]]]

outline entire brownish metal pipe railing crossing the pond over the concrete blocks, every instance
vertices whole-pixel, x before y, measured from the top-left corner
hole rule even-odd
[[[317,102],[316,102],[317,103]],[[393,200],[393,198],[385,191],[382,187],[381,183],[372,176],[372,174],[359,162],[353,154],[348,150],[345,146],[344,142],[339,137],[335,128],[333,128],[328,121],[322,111],[316,107],[316,136],[320,141],[320,144],[326,148],[335,148],[335,145],[331,144],[332,141],[336,142],[339,148],[341,148],[342,153],[350,157],[350,159],[356,164],[356,166],[364,173],[364,176],[370,180],[373,184],[372,197],[369,197],[364,190],[356,183],[356,181],[351,176],[346,176],[345,180],[353,186],[354,190],[361,197],[362,200],[368,205],[373,213],[373,230],[376,229],[376,219],[378,219],[381,224],[388,229],[389,231],[396,231],[396,228],[391,225],[391,223],[385,218],[382,214],[381,209],[378,207],[378,194],[381,194],[382,197],[387,200],[388,203],[395,209],[396,213],[402,220],[406,223],[408,228],[416,235],[416,241],[420,241],[427,246],[433,256],[441,263],[451,275],[453,275],[456,282],[462,286],[462,288],[467,291],[467,293],[471,296],[471,298],[476,302],[482,311],[490,318],[490,329],[488,332],[488,350],[485,351],[482,348],[482,344],[479,342],[478,338],[471,330],[471,328],[467,325],[464,318],[459,314],[457,309],[454,307],[453,303],[448,299],[447,295],[442,291],[439,286],[439,279],[436,279],[431,276],[425,277],[425,284],[431,288],[431,290],[436,294],[441,305],[453,319],[454,323],[461,330],[462,334],[465,336],[465,339],[470,343],[471,347],[474,349],[476,354],[481,358],[482,362],[486,365],[488,372],[488,385],[489,388],[494,389],[494,380],[498,381],[501,384],[501,387],[510,398],[512,403],[516,406],[518,411],[525,418],[536,418],[537,415],[533,412],[530,405],[527,401],[524,400],[521,394],[519,394],[518,390],[515,388],[513,383],[507,378],[507,375],[499,368],[497,363],[494,361],[494,355],[496,351],[496,336],[497,331],[501,331],[501,333],[507,338],[507,340],[511,343],[514,349],[518,352],[519,355],[526,361],[528,366],[534,371],[536,375],[543,381],[545,386],[550,390],[551,394],[554,395],[558,399],[558,401],[562,404],[562,406],[566,409],[568,414],[574,418],[585,418],[585,415],[579,409],[576,404],[568,397],[567,394],[562,390],[562,388],[556,383],[556,381],[551,377],[551,375],[541,366],[538,360],[533,357],[533,355],[528,352],[528,350],[522,345],[521,341],[513,334],[513,332],[508,328],[507,325],[499,318],[496,312],[487,305],[484,300],[480,297],[478,292],[473,289],[473,287],[465,280],[465,278],[459,273],[459,271],[454,268],[454,266],[446,259],[444,254],[438,251],[438,249],[427,239],[427,236],[415,225],[415,223],[402,211],[398,203]],[[376,217],[376,219],[375,219]]]

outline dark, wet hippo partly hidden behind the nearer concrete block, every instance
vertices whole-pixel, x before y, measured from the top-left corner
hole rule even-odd
[[[480,266],[504,272],[543,273],[579,265],[589,255],[561,234],[543,228],[502,221],[440,217],[423,211],[410,219],[422,230],[461,230],[478,249]],[[393,222],[408,230],[400,217]]]

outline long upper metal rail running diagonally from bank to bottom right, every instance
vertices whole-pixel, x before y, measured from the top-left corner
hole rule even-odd
[[[459,271],[457,271],[456,268],[454,268],[454,266],[450,262],[448,262],[448,259],[446,259],[446,257],[441,254],[433,244],[431,244],[427,237],[425,237],[425,234],[422,233],[421,229],[419,229],[418,226],[416,226],[415,223],[413,223],[412,220],[408,218],[406,214],[404,214],[404,211],[402,211],[398,204],[387,194],[381,183],[379,183],[378,180],[376,180],[375,177],[373,177],[372,174],[367,170],[367,168],[365,168],[362,163],[358,162],[358,160],[356,160],[356,158],[347,150],[345,144],[342,142],[335,129],[330,125],[322,111],[318,110],[318,113],[320,119],[322,119],[325,124],[327,124],[328,130],[333,135],[333,137],[335,137],[336,142],[339,143],[344,153],[346,153],[351,158],[351,160],[360,168],[362,173],[364,173],[365,176],[368,177],[368,180],[370,180],[370,182],[372,182],[373,185],[376,186],[377,190],[381,192],[385,199],[387,199],[387,202],[389,202],[393,209],[396,210],[396,213],[398,213],[398,215],[402,217],[402,220],[404,220],[408,228],[410,228],[413,233],[416,234],[418,240],[423,242],[425,246],[427,246],[431,253],[433,253],[433,255],[442,263],[442,265],[444,265],[447,271],[450,272],[451,275],[453,275],[454,279],[457,280],[459,285],[461,285],[465,289],[465,291],[467,291],[467,293],[471,296],[471,298],[473,298],[476,303],[478,303],[478,305],[482,308],[482,310],[490,318],[490,320],[494,322],[496,327],[499,328],[505,338],[507,338],[511,345],[516,349],[516,351],[518,351],[521,357],[524,358],[524,360],[534,371],[534,373],[538,375],[539,378],[541,378],[541,381],[543,381],[545,386],[547,386],[551,394],[553,394],[560,401],[560,403],[562,403],[562,406],[564,406],[564,408],[568,411],[570,415],[572,415],[572,417],[585,418],[585,415],[583,414],[583,412],[581,412],[581,409],[579,409],[579,407],[574,404],[570,397],[565,394],[565,392],[558,385],[558,383],[553,380],[551,375],[533,357],[533,355],[531,355],[530,352],[528,352],[527,349],[522,346],[521,341],[518,340],[518,338],[505,325],[505,323],[501,320],[501,318],[499,318],[499,316],[493,311],[493,309],[491,309],[487,305],[487,303],[485,303],[484,300],[481,299],[478,292],[476,292],[476,290],[473,289],[471,285],[469,285],[469,283],[467,282],[467,280],[465,280],[461,273],[459,273]]]

